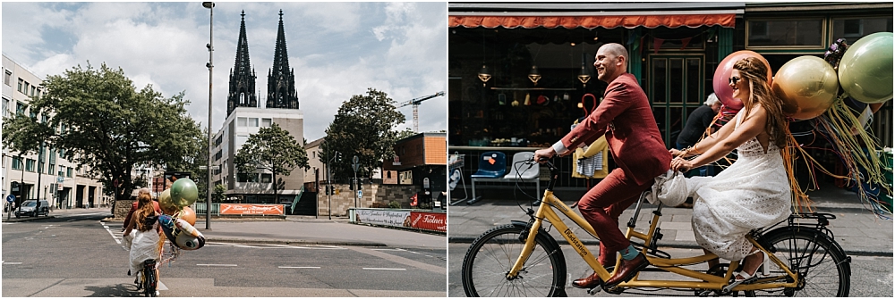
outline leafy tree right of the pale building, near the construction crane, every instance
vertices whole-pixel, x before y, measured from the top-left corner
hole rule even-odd
[[[366,95],[352,96],[339,107],[320,145],[320,162],[328,163],[334,178],[353,178],[351,160],[356,155],[360,163],[358,177],[371,178],[372,170],[395,155],[393,146],[398,132],[392,128],[404,121],[404,114],[395,108],[395,100],[385,92],[368,88]],[[336,153],[342,154],[342,159],[329,163]]]

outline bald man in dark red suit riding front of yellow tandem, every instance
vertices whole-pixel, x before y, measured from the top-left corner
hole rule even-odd
[[[566,137],[552,147],[534,153],[535,161],[551,158],[554,154],[570,154],[575,148],[590,145],[606,135],[618,168],[581,197],[578,210],[600,237],[600,262],[606,266],[614,265],[616,253],[621,253],[619,269],[603,284],[607,289],[634,278],[638,271],[649,265],[644,254],[637,252],[618,230],[618,216],[652,186],[652,179],[669,170],[671,162],[671,154],[665,148],[652,116],[649,99],[637,85],[637,79],[627,73],[627,60],[624,46],[601,46],[593,66],[597,69],[597,79],[609,83],[602,102]],[[581,288],[599,284],[596,273],[572,282],[573,286]]]

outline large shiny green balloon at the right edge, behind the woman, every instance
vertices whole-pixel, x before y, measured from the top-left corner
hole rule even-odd
[[[848,47],[839,65],[839,79],[848,96],[874,104],[892,98],[892,33],[861,37]]]

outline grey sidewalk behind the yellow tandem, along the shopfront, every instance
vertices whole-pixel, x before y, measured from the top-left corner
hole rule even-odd
[[[470,243],[486,230],[494,226],[509,224],[510,220],[527,221],[528,216],[519,209],[516,200],[512,198],[512,192],[508,192],[507,198],[485,198],[473,205],[459,203],[447,208],[448,242]],[[873,212],[865,209],[857,195],[847,190],[823,186],[822,189],[808,192],[808,196],[814,201],[814,212],[831,213],[836,216],[830,220],[828,228],[833,232],[836,241],[850,255],[892,255],[892,220],[881,220],[874,216]],[[564,199],[566,204],[575,203]],[[527,206],[524,206],[527,209]],[[627,221],[634,215],[635,205],[632,205],[618,218],[619,228],[625,231]],[[644,204],[640,216],[636,221],[636,230],[644,231],[649,228],[652,219],[652,211],[655,206]],[[575,209],[577,212],[577,209]],[[700,248],[695,242],[693,228],[690,226],[692,210],[686,208],[662,208],[661,233],[664,237],[659,241],[662,247]],[[891,216],[891,215],[890,215]],[[566,219],[565,216],[560,216]],[[566,219],[567,220],[567,219]],[[582,228],[578,228],[571,220],[567,225],[572,228],[575,235],[581,237],[585,245],[597,245],[593,237]],[[556,229],[550,231],[550,235],[560,244],[567,244]]]

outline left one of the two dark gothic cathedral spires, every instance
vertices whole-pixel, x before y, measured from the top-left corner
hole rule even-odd
[[[255,70],[249,70],[249,41],[245,38],[245,11],[239,25],[239,42],[236,44],[236,64],[230,69],[230,92],[226,96],[226,115],[236,107],[258,107],[255,95]]]

